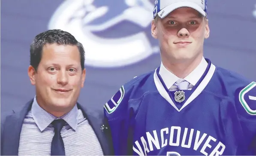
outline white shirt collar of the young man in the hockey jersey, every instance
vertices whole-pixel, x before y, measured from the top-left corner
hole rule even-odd
[[[184,80],[188,81],[193,86],[196,85],[196,83],[199,81],[199,79],[202,77],[202,75],[205,72],[205,69],[207,68],[208,63],[205,61],[205,58],[202,58],[202,61],[200,64],[194,69],[192,72],[190,72],[189,75],[187,75]],[[176,81],[180,80],[178,76],[174,75],[172,72],[170,72],[166,67],[161,63],[159,74],[163,79],[163,82],[165,83],[166,87],[170,89],[173,84],[175,84]]]

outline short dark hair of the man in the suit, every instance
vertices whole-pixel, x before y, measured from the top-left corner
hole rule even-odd
[[[30,45],[30,65],[37,71],[42,58],[42,49],[45,44],[76,45],[80,53],[82,70],[84,69],[84,47],[73,35],[60,29],[52,29],[42,32],[34,38]]]

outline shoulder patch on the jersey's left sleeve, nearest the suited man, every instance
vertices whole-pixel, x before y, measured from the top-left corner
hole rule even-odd
[[[115,93],[115,95],[104,105],[105,110],[108,114],[113,113],[124,97],[124,88],[123,86]]]

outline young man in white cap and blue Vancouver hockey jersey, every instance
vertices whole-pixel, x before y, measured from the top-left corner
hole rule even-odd
[[[256,82],[203,57],[206,0],[156,0],[162,63],[105,104],[115,155],[253,155]]]

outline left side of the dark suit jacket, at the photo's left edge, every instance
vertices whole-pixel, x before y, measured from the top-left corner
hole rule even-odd
[[[33,99],[25,107],[10,116],[6,117],[3,130],[3,154],[18,156],[18,147],[21,135],[21,128],[27,112],[31,109]]]

